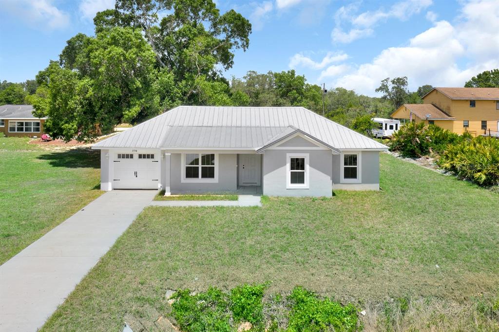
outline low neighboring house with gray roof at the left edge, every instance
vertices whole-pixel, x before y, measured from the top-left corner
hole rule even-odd
[[[0,106],[0,133],[7,137],[40,137],[46,118],[33,115],[31,105]]]

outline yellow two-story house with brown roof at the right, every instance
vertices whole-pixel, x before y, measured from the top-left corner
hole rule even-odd
[[[499,88],[434,88],[423,104],[404,104],[392,118],[435,124],[457,134],[499,132]]]

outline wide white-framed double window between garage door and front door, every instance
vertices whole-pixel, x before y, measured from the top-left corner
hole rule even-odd
[[[184,154],[182,180],[185,182],[217,182],[216,154]]]

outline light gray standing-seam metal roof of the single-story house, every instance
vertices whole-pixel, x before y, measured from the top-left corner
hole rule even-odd
[[[257,150],[296,129],[336,149],[387,149],[303,107],[213,106],[176,107],[93,147]]]

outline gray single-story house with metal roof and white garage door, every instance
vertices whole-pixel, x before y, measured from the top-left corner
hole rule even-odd
[[[102,190],[331,196],[379,190],[387,147],[303,107],[179,106],[92,149]]]

